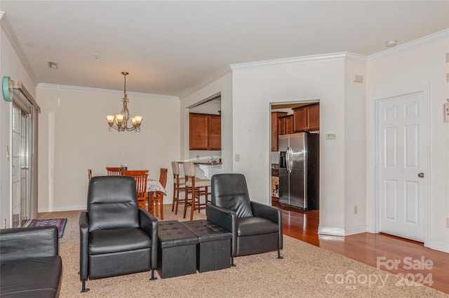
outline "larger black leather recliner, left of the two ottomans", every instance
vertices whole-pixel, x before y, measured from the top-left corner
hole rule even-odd
[[[157,219],[138,208],[135,180],[98,176],[89,181],[87,212],[79,217],[81,292],[88,278],[105,278],[157,266]]]

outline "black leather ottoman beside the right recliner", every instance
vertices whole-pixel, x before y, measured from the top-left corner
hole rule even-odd
[[[198,236],[196,269],[199,272],[229,268],[231,266],[231,233],[206,219],[182,222]]]

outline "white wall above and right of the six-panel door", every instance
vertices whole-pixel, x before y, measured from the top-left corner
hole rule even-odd
[[[368,62],[368,99],[394,90],[428,84],[430,88],[430,246],[449,252],[449,123],[443,123],[442,104],[449,98],[446,73],[449,64],[449,30],[435,34],[431,43],[398,50],[390,55],[375,55]],[[441,36],[441,38],[438,38]],[[369,107],[369,106],[368,106]],[[373,114],[374,111],[368,110]],[[372,172],[374,165],[368,169]]]

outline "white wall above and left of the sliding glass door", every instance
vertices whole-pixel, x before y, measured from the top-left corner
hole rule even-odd
[[[6,37],[1,20],[0,35],[0,79],[10,76],[13,81],[22,81],[28,92],[36,99],[36,87],[27,74],[13,46]],[[11,227],[11,160],[7,158],[6,147],[11,149],[11,109],[12,103],[6,102],[0,95],[0,226]]]

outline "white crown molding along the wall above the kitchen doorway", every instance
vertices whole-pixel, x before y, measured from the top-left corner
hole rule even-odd
[[[232,71],[237,71],[241,69],[255,69],[262,67],[277,67],[283,65],[297,65],[304,63],[313,63],[313,62],[327,62],[334,60],[349,60],[353,62],[366,62],[366,56],[358,55],[349,52],[341,52],[341,53],[330,53],[330,54],[321,54],[321,55],[309,55],[302,57],[292,57],[292,58],[283,58],[283,59],[275,59],[275,60],[265,60],[265,61],[256,61],[256,62],[248,62],[248,63],[240,63],[235,65],[230,65]]]

